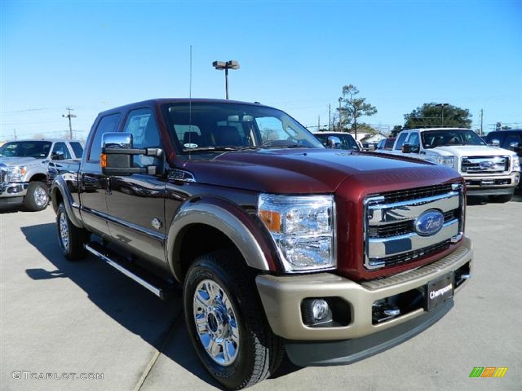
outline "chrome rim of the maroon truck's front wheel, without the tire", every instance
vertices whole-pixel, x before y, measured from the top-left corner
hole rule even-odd
[[[213,280],[202,280],[194,291],[194,322],[199,340],[216,363],[228,366],[238,356],[239,328],[232,303]]]

